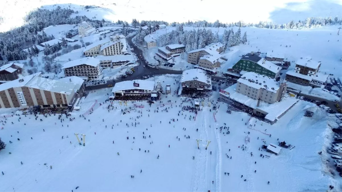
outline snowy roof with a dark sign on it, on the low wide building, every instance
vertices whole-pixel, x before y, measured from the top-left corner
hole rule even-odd
[[[133,85],[134,83],[138,83],[139,87],[135,87]],[[154,81],[148,81],[148,80],[121,81],[121,82],[115,83],[111,92],[115,93],[117,91],[132,90],[132,89],[153,91]]]

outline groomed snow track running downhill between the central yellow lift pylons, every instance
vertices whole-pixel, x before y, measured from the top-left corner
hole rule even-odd
[[[208,150],[207,146],[207,126],[205,125],[205,119],[208,110],[203,109],[197,114],[197,121],[195,123],[195,129],[198,128],[198,139],[202,139],[199,142],[199,149],[196,149],[196,156],[193,168],[192,176],[192,190],[193,192],[206,191],[206,176],[207,176],[207,162],[208,162]]]

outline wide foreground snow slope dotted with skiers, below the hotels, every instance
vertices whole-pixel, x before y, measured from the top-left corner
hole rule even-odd
[[[62,123],[54,115],[47,118],[39,115],[38,120],[33,115],[21,115],[20,121],[18,116],[8,117],[4,129],[0,130],[2,140],[7,144],[6,149],[0,151],[0,171],[4,172],[0,175],[0,192],[318,192],[325,191],[329,184],[339,188],[340,176],[332,176],[323,163],[328,155],[325,152],[322,156],[317,154],[330,145],[331,131],[327,122],[332,123],[332,118],[319,108],[312,118],[303,117],[307,108],[317,106],[299,101],[271,126],[255,122],[245,113],[226,113],[225,104],[216,104],[216,92],[211,98],[213,104],[220,106],[215,117],[208,100],[196,115],[181,111],[179,105],[193,106],[195,100],[173,95],[177,90],[173,84],[175,79],[180,80],[180,76],[156,78],[163,87],[171,85],[172,95],[162,96],[162,103],[151,107],[146,102],[120,106],[116,101],[114,109],[108,111],[105,108],[108,102],[99,105],[108,98],[106,94],[110,89],[107,88],[90,93],[82,102],[81,110],[68,117],[75,118],[73,121],[65,115]],[[144,108],[135,109],[134,104]],[[121,109],[129,107],[132,108],[129,113],[121,113]],[[11,114],[7,109],[1,109],[1,112],[0,116]],[[226,134],[227,129],[220,132],[221,126],[229,127],[230,134]],[[74,133],[86,135],[84,147],[78,145]],[[188,136],[190,139],[186,138]],[[250,142],[246,142],[246,137]],[[282,149],[278,156],[259,151],[263,141],[277,143],[277,138],[295,148]],[[196,139],[202,139],[199,150]],[[207,140],[211,142],[205,150]],[[243,151],[242,146],[246,150]],[[269,185],[267,181],[270,181]],[[77,186],[79,188],[75,190]]]

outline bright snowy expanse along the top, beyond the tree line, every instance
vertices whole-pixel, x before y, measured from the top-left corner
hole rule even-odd
[[[71,5],[69,4],[71,3]],[[224,23],[244,20],[246,23],[272,21],[288,23],[291,20],[304,20],[307,17],[340,16],[342,0],[264,0],[264,1],[221,1],[221,0],[175,0],[172,3],[160,0],[122,0],[122,1],[91,1],[91,0],[40,0],[40,1],[9,1],[2,2],[0,16],[3,24],[0,31],[11,27],[21,26],[23,17],[31,10],[44,6],[53,8],[59,4],[79,11],[79,15],[89,18],[131,22],[139,20],[165,20],[167,22],[186,22],[188,20],[207,20],[214,22],[219,19]],[[85,10],[85,5],[100,6],[101,8]],[[55,6],[56,7],[56,6]],[[54,8],[55,8],[54,7]],[[15,11],[15,14],[13,14]],[[179,14],[181,13],[181,14]]]

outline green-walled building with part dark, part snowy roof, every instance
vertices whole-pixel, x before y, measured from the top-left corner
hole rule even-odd
[[[246,54],[232,68],[262,74],[271,78],[277,78],[281,70],[281,67],[254,53]]]

